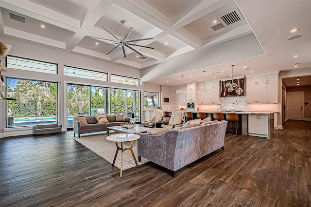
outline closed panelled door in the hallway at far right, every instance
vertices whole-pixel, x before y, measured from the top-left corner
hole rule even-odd
[[[303,119],[304,92],[287,93],[287,115],[288,119]]]

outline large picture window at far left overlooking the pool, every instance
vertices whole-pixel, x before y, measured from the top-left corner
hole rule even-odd
[[[57,83],[6,78],[6,127],[57,123]]]

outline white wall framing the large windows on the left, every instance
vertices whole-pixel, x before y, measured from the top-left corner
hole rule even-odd
[[[63,126],[63,131],[66,131],[66,122],[67,122],[67,83],[74,84],[86,84],[93,86],[103,86],[103,87],[116,87],[123,89],[131,89],[131,90],[139,90],[143,91],[143,86],[131,86],[125,84],[111,83],[111,82],[103,82],[98,80],[90,80],[84,78],[76,78],[64,76],[64,65],[89,69],[99,72],[105,72],[116,75],[124,75],[129,77],[140,78],[140,70],[133,69],[130,67],[126,67],[119,64],[113,64],[107,61],[104,61],[100,58],[95,58],[91,56],[86,56],[78,53],[67,52],[65,50],[43,45],[40,43],[35,43],[28,40],[22,40],[18,38],[10,38],[10,37],[1,37],[1,41],[6,44],[11,44],[12,49],[9,55],[12,56],[20,56],[35,60],[42,60],[46,62],[52,62],[58,64],[58,74],[45,74],[45,73],[37,73],[32,71],[23,71],[17,69],[7,68],[7,72],[3,72],[3,76],[8,77],[16,77],[16,78],[29,78],[35,80],[45,80],[59,83],[59,92],[60,92],[60,100],[58,106],[58,117],[59,123]],[[5,58],[1,58],[3,66],[5,66]],[[158,86],[158,88],[160,88]],[[5,87],[0,88],[1,91],[5,91]],[[141,93],[143,95],[143,93]],[[142,96],[143,97],[143,96]],[[5,102],[0,101],[0,137],[7,136],[16,136],[16,135],[25,135],[32,134],[31,127],[21,127],[21,128],[10,128],[5,129]],[[143,105],[142,105],[143,106]]]

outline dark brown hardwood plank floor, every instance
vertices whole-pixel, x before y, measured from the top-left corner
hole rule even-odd
[[[218,150],[177,171],[123,171],[73,132],[0,139],[1,207],[311,207],[311,122],[265,139],[227,133]]]

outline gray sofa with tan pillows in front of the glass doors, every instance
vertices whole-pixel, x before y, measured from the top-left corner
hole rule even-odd
[[[78,134],[80,138],[80,134],[83,133],[91,133],[91,132],[103,132],[107,131],[107,127],[119,126],[120,123],[124,123],[124,121],[116,122],[116,115],[106,115],[109,123],[98,123],[95,116],[84,116],[86,117],[87,124],[81,125],[81,123],[76,120],[75,116],[73,117],[73,136]],[[130,118],[125,118],[125,122],[130,123]]]

